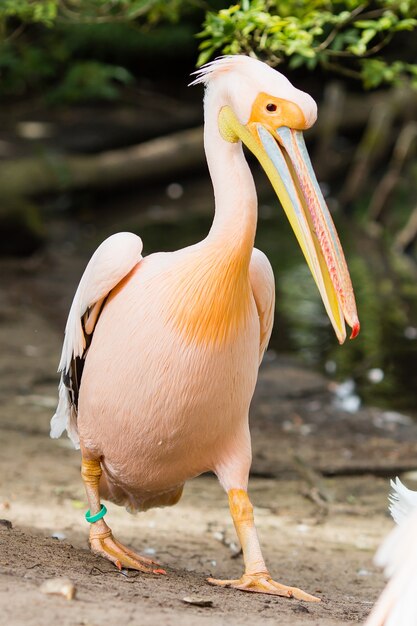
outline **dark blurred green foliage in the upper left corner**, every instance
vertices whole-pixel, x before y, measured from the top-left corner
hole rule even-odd
[[[126,63],[135,68],[143,48],[168,56],[193,43],[198,27],[177,23],[196,6],[199,0],[0,0],[0,97],[113,100],[133,82]]]

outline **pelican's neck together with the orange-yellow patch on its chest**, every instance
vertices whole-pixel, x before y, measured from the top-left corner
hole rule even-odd
[[[204,127],[215,215],[204,241],[191,246],[194,256],[187,254],[183,266],[177,267],[169,317],[188,341],[223,346],[239,336],[250,316],[249,264],[257,199],[242,145],[220,136],[217,118],[221,103],[216,94],[210,88],[206,92]]]

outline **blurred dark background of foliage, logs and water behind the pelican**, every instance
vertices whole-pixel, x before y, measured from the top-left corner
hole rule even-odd
[[[416,32],[411,0],[3,0],[2,323],[35,307],[62,332],[85,263],[113,232],[138,233],[145,254],[205,236],[203,94],[187,83],[215,56],[252,54],[318,102],[306,141],[362,322],[340,348],[253,162],[257,246],[277,281],[267,358],[297,354],[330,375],[348,411],[417,417]]]

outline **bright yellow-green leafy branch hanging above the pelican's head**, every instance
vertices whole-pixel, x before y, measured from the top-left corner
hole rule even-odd
[[[390,60],[377,56],[401,31],[417,31],[414,0],[242,0],[207,13],[198,65],[214,54],[244,53],[290,69],[321,66],[366,88],[403,80],[417,88],[416,64],[392,51]]]

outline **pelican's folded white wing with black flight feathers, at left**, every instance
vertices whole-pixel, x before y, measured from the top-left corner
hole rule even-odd
[[[94,327],[109,293],[139,263],[142,240],[133,233],[112,235],[97,248],[78,285],[65,327],[64,345],[58,371],[59,401],[51,420],[51,437],[66,429],[76,447],[78,389],[85,354]]]

